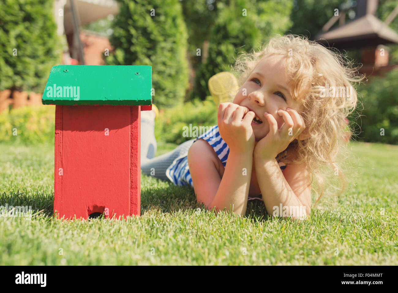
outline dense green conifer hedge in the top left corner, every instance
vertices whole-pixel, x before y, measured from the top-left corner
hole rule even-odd
[[[53,0],[0,2],[0,90],[43,92],[61,61]]]

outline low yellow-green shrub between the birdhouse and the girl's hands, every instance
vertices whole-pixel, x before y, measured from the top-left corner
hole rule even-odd
[[[155,120],[155,137],[158,142],[182,144],[195,137],[183,137],[189,124],[200,127],[211,127],[217,124],[217,110],[213,97],[208,96],[205,101],[193,100],[162,112]],[[199,134],[198,134],[199,136]]]

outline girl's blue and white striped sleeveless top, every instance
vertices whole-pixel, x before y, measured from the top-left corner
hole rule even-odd
[[[229,147],[220,136],[219,126],[218,125],[212,126],[207,132],[205,132],[205,134],[202,134],[201,136],[195,138],[193,142],[201,138],[209,142],[209,144],[213,147],[214,151],[217,153],[217,156],[219,157],[222,165],[225,167],[229,155]],[[177,157],[170,165],[170,167],[168,167],[166,171],[166,176],[175,185],[179,186],[191,185],[193,187],[191,173],[189,172],[187,155],[188,151]],[[285,151],[285,153],[283,153],[283,158],[286,157],[286,155],[287,152]],[[277,158],[278,157],[276,157],[275,159]],[[279,167],[281,168],[281,170],[283,170],[286,168],[286,165],[282,163],[280,160],[281,159],[277,161],[279,163]],[[261,195],[259,195],[259,197],[249,196],[248,198],[248,200],[253,200],[253,199],[262,200],[262,197]]]

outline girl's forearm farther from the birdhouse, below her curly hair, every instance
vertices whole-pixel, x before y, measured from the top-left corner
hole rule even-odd
[[[258,185],[268,214],[305,218],[305,206],[287,183],[276,159],[255,159]]]

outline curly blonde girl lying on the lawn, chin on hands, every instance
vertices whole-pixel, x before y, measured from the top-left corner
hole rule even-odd
[[[362,78],[343,62],[294,35],[243,53],[233,69],[240,89],[219,105],[217,125],[204,135],[154,157],[155,114],[141,112],[142,171],[191,185],[197,200],[217,212],[245,215],[247,201],[258,199],[270,215],[306,218],[314,178],[321,191],[316,202],[324,192],[320,167],[329,165],[341,179],[339,194],[346,187],[336,157],[346,151],[344,119],[357,104],[351,83]]]

